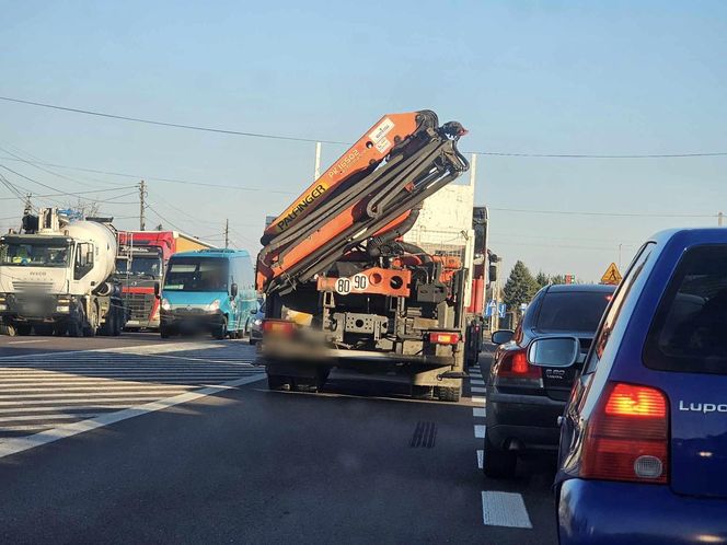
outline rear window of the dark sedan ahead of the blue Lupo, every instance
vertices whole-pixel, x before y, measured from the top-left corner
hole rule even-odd
[[[609,292],[549,291],[541,302],[535,329],[593,333],[610,300]]]

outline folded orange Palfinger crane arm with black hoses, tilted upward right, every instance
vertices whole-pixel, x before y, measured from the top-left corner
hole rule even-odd
[[[383,116],[265,230],[257,289],[295,289],[367,241],[411,229],[412,210],[469,167],[455,146],[465,132],[429,111]]]

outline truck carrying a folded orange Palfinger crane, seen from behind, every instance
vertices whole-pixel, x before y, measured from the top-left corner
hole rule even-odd
[[[265,229],[257,350],[270,389],[316,391],[338,367],[459,399],[466,264],[402,236],[469,169],[465,134],[430,111],[385,115]]]

